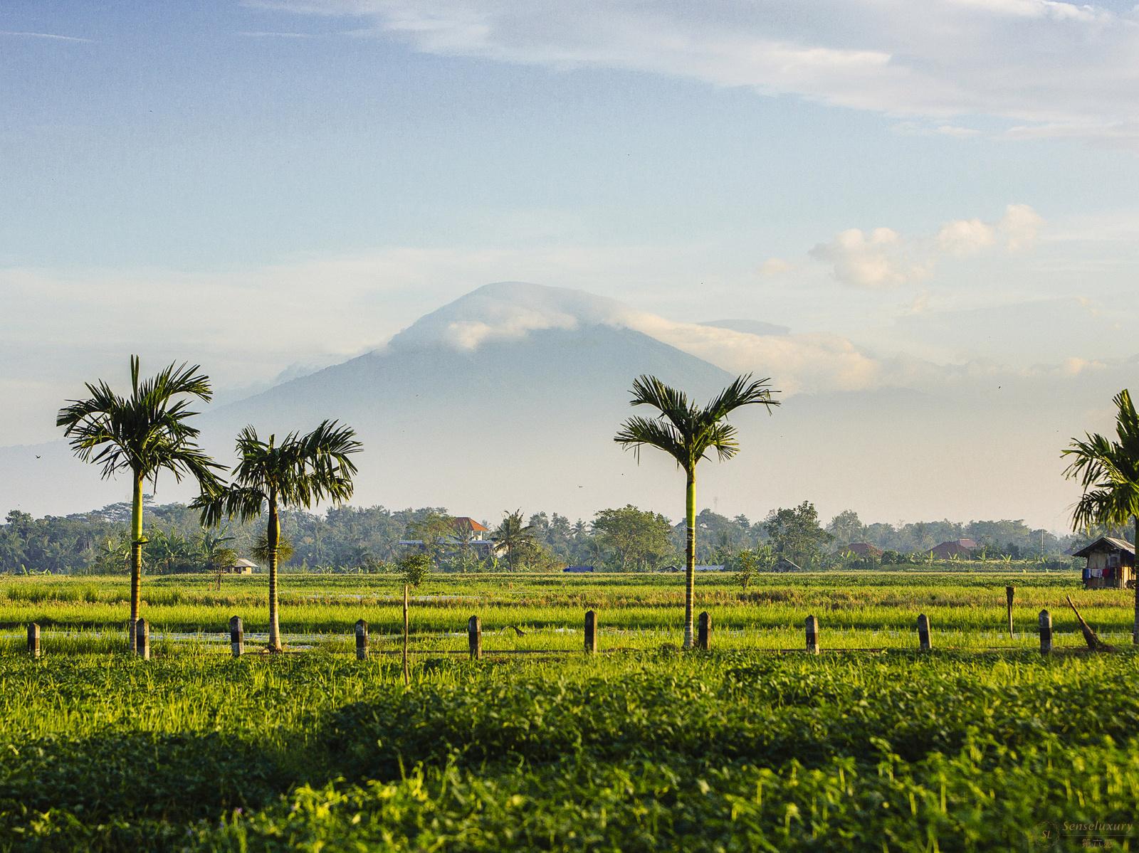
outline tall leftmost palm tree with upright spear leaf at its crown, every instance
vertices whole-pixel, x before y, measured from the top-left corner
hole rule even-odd
[[[131,393],[120,396],[106,382],[87,383],[87,400],[68,400],[59,410],[56,426],[64,427],[72,450],[84,462],[103,466],[103,477],[129,470],[133,484],[131,500],[131,621],[130,643],[134,647],[134,623],[139,617],[139,584],[142,577],[142,484],[157,483],[158,471],[169,470],[175,481],[194,477],[203,494],[218,490],[214,474],[221,466],[197,445],[198,429],[187,423],[191,411],[187,397],[208,402],[213,396],[210,377],[194,364],[170,364],[149,379],[139,379],[139,358],[131,356]]]

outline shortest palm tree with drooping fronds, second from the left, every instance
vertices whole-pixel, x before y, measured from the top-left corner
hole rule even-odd
[[[350,457],[361,449],[355,432],[337,426],[335,420],[321,421],[306,435],[289,433],[280,443],[276,435],[261,441],[257,430],[247,426],[237,436],[240,461],[233,467],[233,482],[203,494],[190,505],[202,511],[202,523],[208,526],[220,524],[222,518],[249,522],[268,511],[265,556],[269,564],[269,648],[272,651],[281,650],[277,617],[280,509],[308,509],[325,498],[335,502],[351,498],[357,467]]]

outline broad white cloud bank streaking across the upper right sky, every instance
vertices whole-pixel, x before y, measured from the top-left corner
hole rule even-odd
[[[890,115],[988,115],[1052,133],[1133,123],[1139,17],[1054,0],[277,0],[416,49],[551,67],[603,66],[792,93]],[[943,122],[931,132],[969,136]],[[1048,132],[1048,131],[1043,131]],[[1016,134],[1014,134],[1016,136]]]

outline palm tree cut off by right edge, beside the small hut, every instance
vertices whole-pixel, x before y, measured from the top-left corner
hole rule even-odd
[[[1073,438],[1063,451],[1063,456],[1072,457],[1064,476],[1079,479],[1083,487],[1083,497],[1072,514],[1072,524],[1084,528],[1093,524],[1122,526],[1134,519],[1136,543],[1139,547],[1139,416],[1126,388],[1112,402],[1118,409],[1115,416],[1118,441],[1087,433],[1084,441]],[[1131,640],[1139,645],[1139,582],[1136,582]]]

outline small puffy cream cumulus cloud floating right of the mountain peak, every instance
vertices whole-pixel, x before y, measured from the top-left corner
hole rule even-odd
[[[809,254],[830,264],[834,277],[845,285],[885,289],[920,281],[943,257],[975,255],[998,241],[1009,252],[1029,248],[1043,222],[1029,205],[1010,204],[997,222],[952,220],[932,238],[906,238],[891,228],[876,228],[869,233],[850,228]]]

